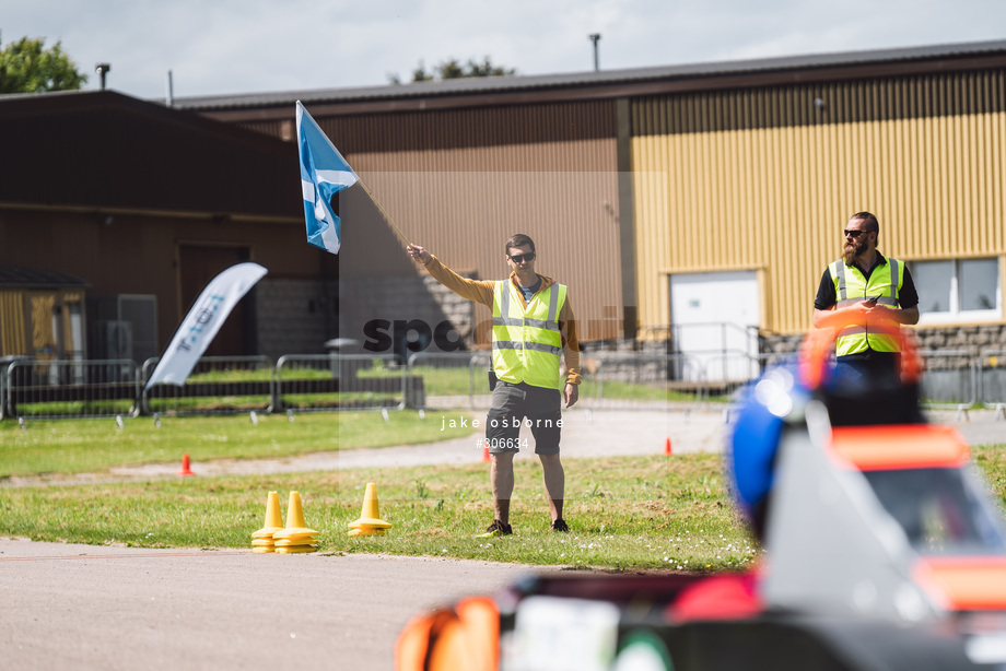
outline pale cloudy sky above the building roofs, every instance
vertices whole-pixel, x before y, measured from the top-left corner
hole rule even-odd
[[[1006,39],[1004,0],[0,0],[0,43],[60,42],[84,89],[176,98],[381,86],[447,59],[518,74]]]

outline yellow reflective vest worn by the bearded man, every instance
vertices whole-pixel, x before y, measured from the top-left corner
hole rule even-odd
[[[874,269],[869,280],[857,269],[850,268],[839,259],[828,264],[831,280],[834,282],[837,307],[846,307],[862,303],[864,298],[877,296],[877,305],[898,308],[899,292],[904,282],[904,263],[888,257],[887,267]],[[874,352],[899,352],[898,339],[887,333],[870,333],[865,326],[850,326],[839,332],[835,339],[835,355],[858,354],[869,348]]]

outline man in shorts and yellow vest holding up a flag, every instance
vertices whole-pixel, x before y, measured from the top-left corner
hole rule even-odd
[[[560,404],[571,408],[580,397],[580,344],[566,287],[535,272],[535,243],[517,234],[504,245],[511,275],[478,281],[460,276],[419,245],[406,250],[441,284],[457,295],[492,309],[492,370],[495,385],[486,421],[489,479],[495,518],[483,537],[510,535],[510,498],[514,491],[514,455],[520,425],[535,437],[549,501],[551,531],[569,531],[562,518],[565,472],[559,459]],[[565,356],[566,375],[560,375]]]

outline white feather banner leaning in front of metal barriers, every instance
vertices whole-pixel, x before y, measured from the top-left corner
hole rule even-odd
[[[258,263],[238,263],[213,278],[182,321],[143,390],[154,385],[183,386],[227,315],[266,272]]]

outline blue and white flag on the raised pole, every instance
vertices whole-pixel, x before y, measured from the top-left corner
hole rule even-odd
[[[301,154],[301,191],[304,193],[307,242],[339,254],[342,229],[339,217],[331,211],[331,197],[353,186],[360,178],[300,101],[297,150]]]

